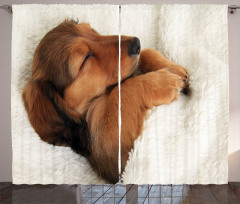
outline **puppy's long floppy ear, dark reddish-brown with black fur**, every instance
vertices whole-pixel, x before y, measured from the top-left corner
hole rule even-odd
[[[31,125],[43,141],[89,155],[86,120],[66,104],[51,82],[30,80],[22,98]]]

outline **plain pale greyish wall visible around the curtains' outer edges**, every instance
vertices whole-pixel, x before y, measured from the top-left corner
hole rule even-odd
[[[109,4],[228,4],[239,0],[1,0],[0,5],[23,3]],[[0,182],[12,180],[11,151],[11,26],[12,16],[0,10]],[[240,10],[229,15],[229,181],[240,181]]]

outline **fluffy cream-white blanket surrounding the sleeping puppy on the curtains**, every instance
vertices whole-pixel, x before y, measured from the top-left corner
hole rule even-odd
[[[117,34],[117,5],[14,5],[12,38],[13,183],[104,183],[70,148],[42,142],[21,91],[34,50],[66,18]],[[227,5],[124,5],[122,34],[140,38],[189,70],[192,94],[149,111],[124,183],[226,183],[228,138]],[[122,110],[124,111],[124,110]]]

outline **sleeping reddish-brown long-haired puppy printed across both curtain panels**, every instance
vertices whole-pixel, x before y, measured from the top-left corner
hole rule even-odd
[[[118,36],[66,20],[37,46],[22,94],[40,138],[71,147],[110,183],[118,182],[118,46]],[[138,38],[122,36],[121,79],[123,171],[147,111],[176,100],[188,77],[158,51],[140,52]]]

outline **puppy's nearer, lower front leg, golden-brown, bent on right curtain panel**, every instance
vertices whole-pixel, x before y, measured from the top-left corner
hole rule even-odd
[[[165,68],[123,82],[121,86],[123,137],[130,134],[135,140],[141,133],[147,110],[176,100],[183,85],[181,77]]]

